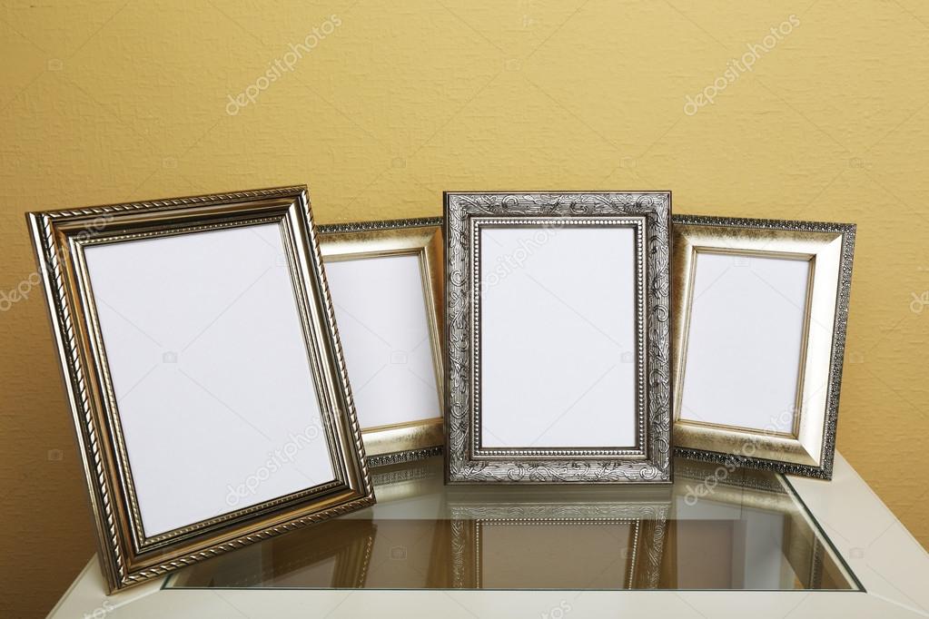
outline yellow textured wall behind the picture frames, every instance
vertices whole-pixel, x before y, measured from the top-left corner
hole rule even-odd
[[[929,543],[926,3],[2,5],[0,290],[29,288],[26,211],[294,183],[320,222],[504,188],[857,222],[839,448]],[[94,545],[39,294],[0,302],[4,616]]]

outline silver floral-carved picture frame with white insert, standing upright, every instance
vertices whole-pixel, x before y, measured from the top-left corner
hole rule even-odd
[[[444,198],[447,483],[669,483],[670,192]]]

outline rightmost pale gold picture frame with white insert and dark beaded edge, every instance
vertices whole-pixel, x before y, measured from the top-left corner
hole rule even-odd
[[[856,226],[673,221],[675,453],[830,479]]]

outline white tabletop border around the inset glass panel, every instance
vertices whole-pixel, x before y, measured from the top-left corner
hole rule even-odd
[[[841,455],[831,482],[791,483],[865,592],[163,589],[160,579],[107,596],[95,557],[49,616],[929,617],[929,556]]]

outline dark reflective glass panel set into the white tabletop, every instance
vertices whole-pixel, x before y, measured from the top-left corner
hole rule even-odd
[[[166,587],[850,589],[785,479],[689,460],[664,488],[445,486],[374,472],[378,504],[203,561]]]

